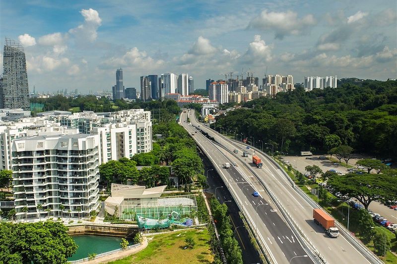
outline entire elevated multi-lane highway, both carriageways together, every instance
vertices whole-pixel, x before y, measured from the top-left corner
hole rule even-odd
[[[233,142],[203,125],[199,127],[200,123],[196,120],[193,110],[188,113],[192,125],[185,122],[187,116],[184,113],[181,115],[181,124],[189,133],[195,134],[193,137],[200,148],[205,150],[206,155],[210,156],[209,158],[215,163],[214,166],[218,166],[219,170],[225,170],[221,166],[224,162],[231,161],[237,165],[228,170],[230,173],[224,173],[226,177],[229,177],[229,179],[226,179],[229,184],[228,188],[237,195],[238,200],[241,200],[236,202],[240,203],[248,213],[249,218],[252,218],[250,220],[258,229],[258,239],[261,240],[266,250],[270,250],[271,257],[274,257],[277,263],[288,263],[292,257],[297,256],[309,255],[311,257],[312,252],[305,243],[297,243],[301,238],[297,239],[258,179],[267,185],[273,198],[276,197],[278,202],[288,211],[289,217],[295,222],[295,226],[300,228],[300,233],[305,234],[305,241],[313,246],[312,249],[320,252],[320,256],[327,263],[377,262],[377,259],[370,253],[360,253],[343,235],[336,239],[325,235],[324,230],[313,222],[313,205],[297,193],[280,168],[268,157],[256,152],[255,155],[262,158],[264,163],[263,168],[256,168],[251,162],[251,155],[253,155],[254,150],[250,150],[251,153],[248,158],[242,158],[241,153],[247,147],[245,144]],[[200,130],[208,133],[220,145],[214,144],[201,133],[196,133],[195,127],[199,127]],[[233,154],[234,149],[237,149],[239,153]],[[259,191],[261,197],[253,197],[252,192],[254,190]],[[280,251],[282,254],[280,254]],[[293,263],[309,263],[310,261],[313,262],[316,259],[310,260],[308,257],[293,259]]]

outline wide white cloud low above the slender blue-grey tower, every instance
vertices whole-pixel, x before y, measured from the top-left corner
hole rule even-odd
[[[154,60],[148,56],[146,52],[140,52],[138,48],[134,47],[121,57],[111,57],[105,60],[102,64],[112,67],[129,67],[139,69],[155,69],[164,63],[163,60]]]

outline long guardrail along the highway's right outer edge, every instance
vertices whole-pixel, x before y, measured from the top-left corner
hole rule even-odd
[[[243,144],[242,142],[239,142],[239,141],[236,141],[236,140],[232,140],[232,139],[230,139],[230,140],[233,141],[233,142],[236,142],[238,144],[241,144],[241,145],[246,145],[246,144]],[[292,188],[294,188],[295,191],[306,202],[308,202],[308,204],[312,208],[314,208],[314,209],[323,209],[319,204],[317,204],[315,201],[313,201],[313,199],[310,198],[301,188],[295,188],[296,184],[294,183],[294,181],[291,179],[291,177],[288,175],[288,173],[285,172],[284,168],[280,164],[278,164],[273,158],[271,158],[270,156],[265,154],[263,151],[255,148],[255,147],[252,147],[251,145],[249,145],[249,146],[250,146],[250,148],[255,149],[255,151],[261,153],[268,160],[270,160],[273,164],[275,164],[282,171],[282,173],[287,177],[287,179],[293,184]],[[330,213],[328,213],[327,211],[325,211],[325,212],[332,217],[332,215]],[[339,231],[341,231],[342,235],[349,241],[349,243],[351,245],[353,245],[363,256],[365,256],[368,261],[370,261],[373,264],[384,264],[384,262],[382,262],[382,260],[380,260],[372,251],[370,251],[360,240],[358,240],[356,237],[352,236],[351,233],[341,223],[339,223],[337,220],[335,220],[335,225],[337,226]],[[305,234],[305,237],[306,237],[306,234]],[[310,241],[310,239],[309,239],[309,241]],[[310,243],[312,244],[311,241],[310,241]]]

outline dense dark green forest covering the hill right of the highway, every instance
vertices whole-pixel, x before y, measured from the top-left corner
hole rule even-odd
[[[397,157],[397,81],[343,80],[336,89],[296,89],[259,98],[217,118],[216,126],[288,153],[325,153],[338,145]],[[293,144],[291,144],[293,142]]]

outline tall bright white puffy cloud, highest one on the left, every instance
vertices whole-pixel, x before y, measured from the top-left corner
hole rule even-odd
[[[84,17],[84,23],[70,29],[69,33],[75,35],[78,41],[93,42],[98,36],[97,29],[101,25],[102,19],[99,17],[98,11],[92,8],[81,9],[80,13]]]

